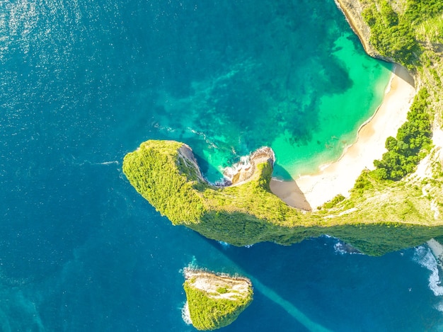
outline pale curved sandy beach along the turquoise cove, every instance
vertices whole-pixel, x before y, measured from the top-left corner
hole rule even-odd
[[[362,170],[374,169],[374,159],[380,159],[386,151],[386,138],[395,137],[406,121],[414,96],[412,77],[406,69],[395,65],[384,100],[372,118],[360,127],[357,142],[347,147],[338,161],[321,166],[317,173],[296,181],[272,179],[272,192],[287,205],[302,210],[316,210],[338,194],[348,197]]]

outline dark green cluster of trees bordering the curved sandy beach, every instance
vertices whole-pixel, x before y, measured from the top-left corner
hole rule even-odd
[[[417,93],[410,106],[408,120],[400,127],[396,138],[386,139],[388,151],[382,159],[374,161],[376,169],[372,171],[372,176],[398,181],[406,174],[413,173],[425,153],[429,153],[432,128],[427,110],[428,97],[426,88]]]

